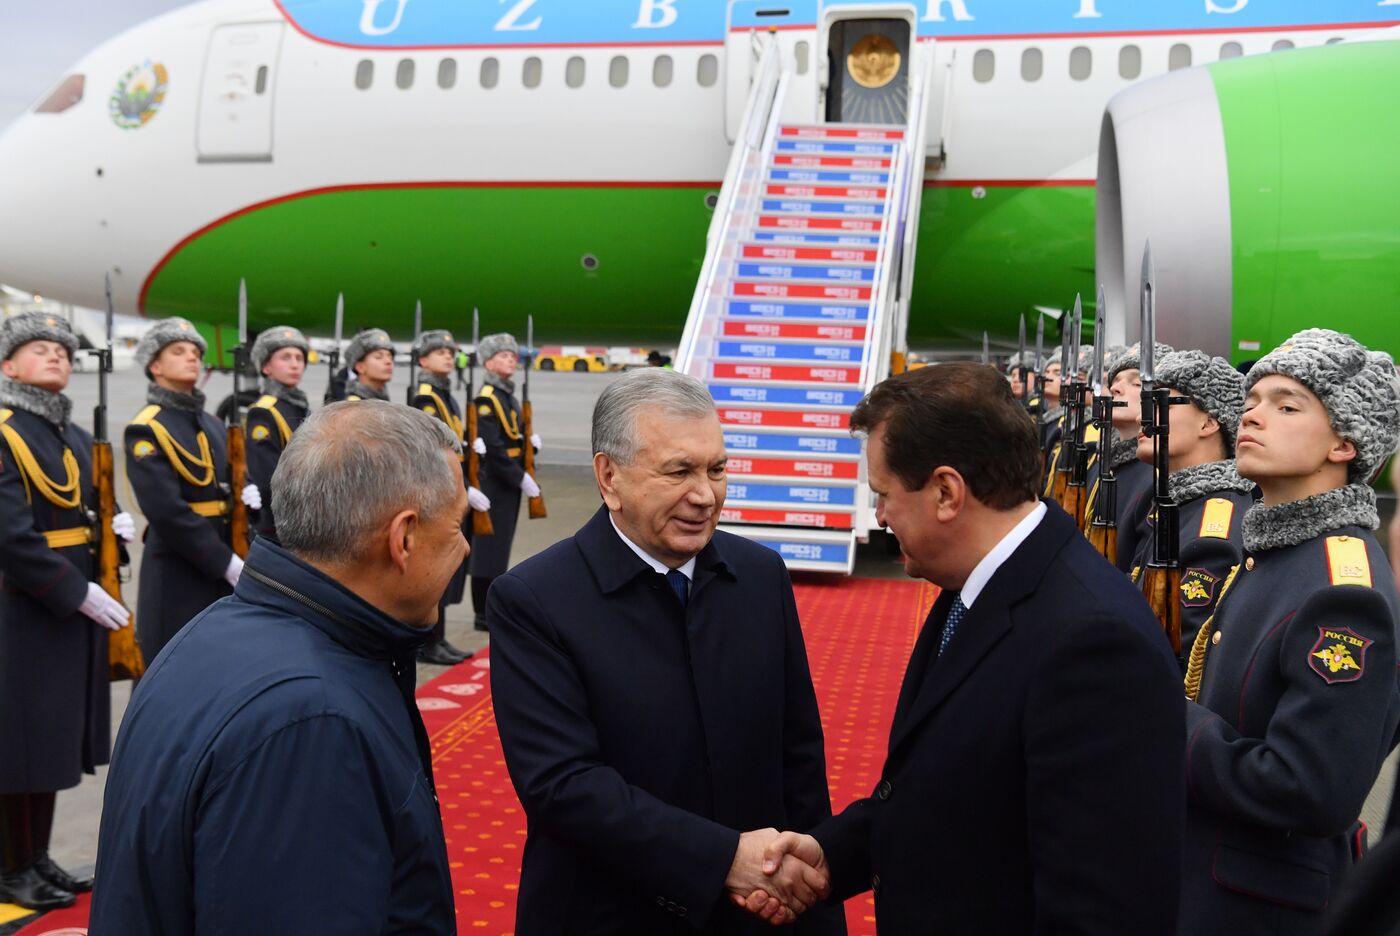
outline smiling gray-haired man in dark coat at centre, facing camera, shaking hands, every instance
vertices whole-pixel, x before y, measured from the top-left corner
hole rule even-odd
[[[763,874],[764,845],[832,814],[792,585],[777,553],[715,532],[724,432],[703,383],[633,371],[592,438],[603,505],[486,604],[529,817],[515,932],[762,932],[741,909],[756,888],[784,918],[822,893],[795,859]],[[841,908],[798,929],[844,933]]]

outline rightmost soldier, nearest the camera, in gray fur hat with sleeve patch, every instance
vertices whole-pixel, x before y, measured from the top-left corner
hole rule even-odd
[[[1322,933],[1396,743],[1394,578],[1369,481],[1400,437],[1390,357],[1308,329],[1250,369],[1239,473],[1263,501],[1186,676],[1182,933]]]

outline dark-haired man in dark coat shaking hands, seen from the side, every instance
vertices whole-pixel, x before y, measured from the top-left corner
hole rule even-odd
[[[874,793],[770,860],[829,872],[836,898],[874,890],[881,933],[1175,933],[1180,670],[1142,596],[1037,501],[1007,382],[924,368],[851,425],[906,571],[942,595]]]

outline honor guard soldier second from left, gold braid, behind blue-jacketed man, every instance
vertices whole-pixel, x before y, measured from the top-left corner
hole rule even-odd
[[[126,427],[126,477],[146,515],[136,637],[147,663],[192,617],[232,593],[244,561],[230,546],[228,451],[223,424],[196,389],[207,346],[181,318],[136,346],[147,406]],[[246,485],[244,504],[260,506]]]

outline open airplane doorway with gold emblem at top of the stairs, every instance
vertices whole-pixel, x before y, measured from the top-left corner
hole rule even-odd
[[[910,35],[904,18],[836,20],[829,25],[829,123],[907,122]]]

